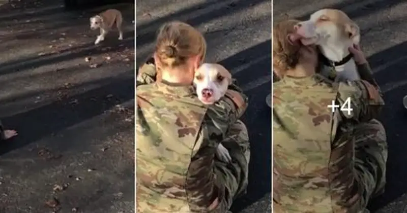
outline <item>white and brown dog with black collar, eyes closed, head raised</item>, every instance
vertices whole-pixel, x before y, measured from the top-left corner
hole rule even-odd
[[[321,74],[335,81],[360,79],[349,48],[360,42],[360,28],[344,12],[335,9],[318,10],[307,21],[295,26],[304,45],[315,44],[324,63]]]

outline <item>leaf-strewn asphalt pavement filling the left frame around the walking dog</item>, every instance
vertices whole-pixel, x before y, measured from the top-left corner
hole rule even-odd
[[[10,2],[10,1],[9,1]],[[134,4],[125,36],[62,1],[0,6],[1,213],[134,212]]]

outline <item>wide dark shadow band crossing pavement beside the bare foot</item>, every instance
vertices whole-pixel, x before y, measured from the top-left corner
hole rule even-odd
[[[129,68],[133,72],[133,68]],[[3,143],[0,155],[24,147],[46,135],[56,133],[104,113],[114,105],[134,98],[134,79],[116,77],[86,84],[104,85],[81,94],[55,101],[24,113],[2,118],[3,124],[18,130],[10,143]],[[106,96],[112,98],[106,99]],[[76,100],[76,103],[72,103]],[[7,114],[7,112],[5,112]]]

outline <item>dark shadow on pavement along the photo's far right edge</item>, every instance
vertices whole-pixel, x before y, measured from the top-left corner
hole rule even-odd
[[[407,167],[404,163],[407,161],[407,145],[405,138],[407,132],[404,127],[407,126],[407,111],[402,105],[402,98],[407,95],[407,82],[405,82],[407,65],[404,58],[407,54],[407,42],[403,42],[394,47],[376,53],[369,57],[369,62],[373,68],[375,79],[384,90],[386,105],[382,111],[381,121],[386,129],[389,155],[387,161],[387,184],[385,193],[371,200],[369,207],[372,211],[393,202],[401,195],[407,192]],[[374,67],[381,66],[380,72]],[[398,84],[398,82],[404,83]],[[382,85],[394,85],[393,87],[383,87]]]

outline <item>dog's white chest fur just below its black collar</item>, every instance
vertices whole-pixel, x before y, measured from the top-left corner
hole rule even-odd
[[[336,77],[335,77],[336,82],[343,82],[346,80],[353,81],[353,80],[360,79],[358,69],[356,67],[356,63],[353,59],[349,60],[348,62],[346,62],[343,65],[335,66],[334,71],[336,72]],[[333,67],[330,67],[327,65],[323,65],[321,67],[321,74],[326,77],[331,77],[332,72],[333,72]]]

